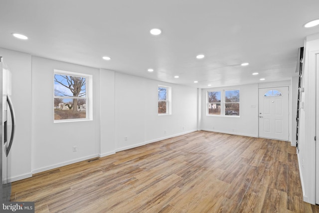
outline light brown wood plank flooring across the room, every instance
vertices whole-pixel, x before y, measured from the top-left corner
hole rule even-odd
[[[319,213],[289,142],[198,131],[33,175],[36,213]]]

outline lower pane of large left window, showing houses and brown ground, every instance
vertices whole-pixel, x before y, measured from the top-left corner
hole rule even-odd
[[[76,118],[86,118],[86,99],[54,98],[54,120]]]

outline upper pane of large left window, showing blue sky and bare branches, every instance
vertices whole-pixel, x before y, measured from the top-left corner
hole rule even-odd
[[[85,97],[85,77],[54,74],[54,95],[68,97]]]

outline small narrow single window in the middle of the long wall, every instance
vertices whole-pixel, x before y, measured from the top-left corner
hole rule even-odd
[[[170,114],[170,87],[160,86],[158,87],[158,114],[167,115]]]

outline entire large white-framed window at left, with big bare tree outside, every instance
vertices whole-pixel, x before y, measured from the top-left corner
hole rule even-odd
[[[91,75],[54,70],[54,122],[92,120]]]

